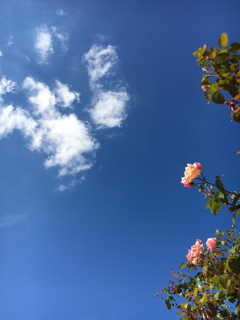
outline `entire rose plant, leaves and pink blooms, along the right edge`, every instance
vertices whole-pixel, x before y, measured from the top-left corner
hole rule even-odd
[[[223,33],[218,40],[220,49],[206,44],[193,53],[203,66],[202,89],[208,104],[226,104],[231,109],[231,119],[240,122],[240,42],[228,47],[228,36]],[[230,95],[225,99],[224,96]],[[238,152],[240,153],[240,151]],[[214,215],[223,208],[233,214],[230,229],[216,231],[206,247],[200,239],[191,246],[181,263],[180,271],[172,270],[169,286],[164,293],[167,309],[177,308],[182,320],[236,320],[240,319],[240,232],[236,230],[236,216],[240,215],[240,192],[225,189],[221,176],[210,183],[202,173],[202,165],[195,162],[185,167],[182,184],[198,190],[207,199],[206,209]],[[187,269],[183,272],[182,269]]]

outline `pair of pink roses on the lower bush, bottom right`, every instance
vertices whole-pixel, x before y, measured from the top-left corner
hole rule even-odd
[[[210,250],[210,252],[214,252],[217,247],[216,238],[208,238],[206,246],[207,249]],[[188,249],[188,254],[186,255],[186,258],[191,264],[197,265],[199,263],[201,254],[203,253],[202,247],[202,241],[196,239],[196,243],[191,246],[191,249]]]

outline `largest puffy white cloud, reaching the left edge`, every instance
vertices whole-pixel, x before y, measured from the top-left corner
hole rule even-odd
[[[61,95],[60,88],[63,88]],[[60,81],[51,91],[46,84],[31,77],[23,81],[23,89],[27,90],[31,112],[19,107],[14,109],[11,105],[2,107],[1,136],[14,129],[21,130],[28,137],[30,149],[46,153],[45,167],[58,167],[59,176],[75,176],[89,169],[94,151],[99,147],[90,133],[89,124],[80,121],[74,113],[62,115],[57,109],[57,104],[70,107],[79,99],[79,94],[70,92]]]

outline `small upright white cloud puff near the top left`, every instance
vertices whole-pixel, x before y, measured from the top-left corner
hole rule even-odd
[[[54,53],[52,35],[46,25],[36,29],[37,36],[34,48],[39,55],[39,63],[46,63],[46,58]]]

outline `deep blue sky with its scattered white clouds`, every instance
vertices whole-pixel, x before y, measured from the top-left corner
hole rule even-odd
[[[0,5],[0,282],[6,320],[172,319],[155,292],[230,227],[187,163],[239,188],[237,123],[191,53],[239,41],[233,3]],[[238,12],[237,12],[238,10]]]

